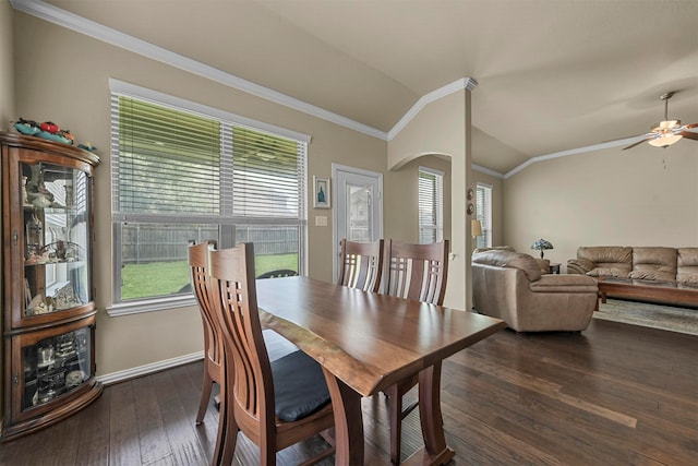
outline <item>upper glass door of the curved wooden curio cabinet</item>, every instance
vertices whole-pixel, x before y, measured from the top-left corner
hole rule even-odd
[[[91,300],[88,177],[47,163],[21,168],[24,316],[85,304]]]

